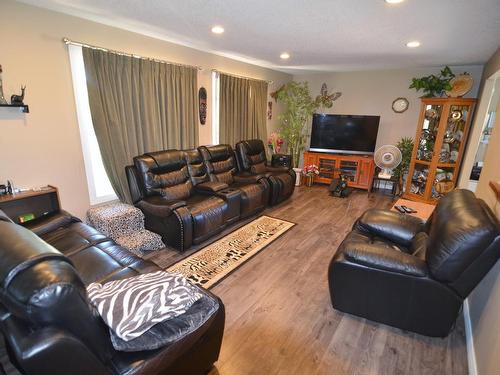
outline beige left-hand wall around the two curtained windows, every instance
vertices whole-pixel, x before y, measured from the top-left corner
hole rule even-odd
[[[199,85],[211,98],[211,69],[273,80],[270,91],[291,80],[285,73],[245,64],[124,30],[10,0],[0,0],[0,64],[10,97],[27,85],[29,114],[0,110],[0,182],[52,184],[62,206],[82,217],[89,207],[67,47],[62,38],[179,63],[199,65]],[[265,42],[265,41],[263,41]],[[210,104],[210,103],[209,103]],[[274,104],[274,103],[273,103]],[[210,107],[209,107],[210,108]],[[200,143],[211,141],[210,113]],[[277,126],[274,105],[269,129]]]

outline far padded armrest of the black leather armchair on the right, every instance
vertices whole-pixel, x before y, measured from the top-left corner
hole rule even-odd
[[[424,222],[411,215],[373,208],[361,215],[354,228],[409,247],[413,237],[424,230]]]

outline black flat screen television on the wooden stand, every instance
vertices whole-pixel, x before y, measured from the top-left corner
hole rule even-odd
[[[310,151],[373,154],[380,116],[314,114]]]

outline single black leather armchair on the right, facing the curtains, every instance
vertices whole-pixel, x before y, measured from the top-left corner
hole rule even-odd
[[[463,300],[500,257],[500,224],[468,190],[441,198],[427,223],[366,211],[329,267],[333,307],[428,336],[452,329]]]

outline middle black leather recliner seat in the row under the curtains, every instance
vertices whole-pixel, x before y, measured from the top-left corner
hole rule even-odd
[[[251,216],[266,208],[269,182],[265,176],[237,172],[236,155],[229,145],[201,146],[210,181],[224,183],[241,193],[241,217]]]

